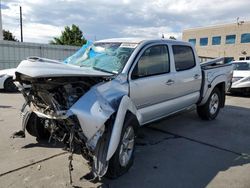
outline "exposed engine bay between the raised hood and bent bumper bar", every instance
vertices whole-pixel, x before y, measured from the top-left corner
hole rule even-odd
[[[29,78],[19,74],[16,80],[31,85],[28,96],[36,110],[50,116],[57,116],[59,112],[68,110],[93,85],[107,79],[99,77]]]

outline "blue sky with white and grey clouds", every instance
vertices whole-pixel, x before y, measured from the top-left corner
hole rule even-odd
[[[183,29],[250,20],[249,0],[2,0],[3,28],[24,41],[47,43],[64,26],[76,24],[89,40],[111,37],[175,36]]]

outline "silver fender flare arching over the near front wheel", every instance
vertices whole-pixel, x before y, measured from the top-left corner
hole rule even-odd
[[[111,159],[111,157],[114,155],[114,153],[115,153],[115,151],[120,143],[122,127],[124,124],[126,113],[128,111],[131,112],[132,114],[134,114],[137,117],[137,119],[140,119],[141,115],[137,111],[134,103],[131,101],[131,99],[127,95],[124,95],[121,99],[119,108],[117,110],[115,122],[113,125],[113,130],[111,133],[107,157],[106,157],[107,161],[109,161]]]

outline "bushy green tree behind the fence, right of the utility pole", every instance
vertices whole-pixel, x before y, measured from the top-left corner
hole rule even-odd
[[[82,46],[86,44],[86,39],[83,37],[82,31],[77,25],[72,25],[71,28],[66,26],[64,31],[62,31],[61,36],[54,37],[50,44],[59,44],[59,45],[74,45]]]

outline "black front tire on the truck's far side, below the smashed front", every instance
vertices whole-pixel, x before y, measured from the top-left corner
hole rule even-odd
[[[37,117],[35,113],[30,115],[26,130],[31,136],[36,137],[38,140],[45,140],[50,137],[49,131],[44,128],[42,119]]]

